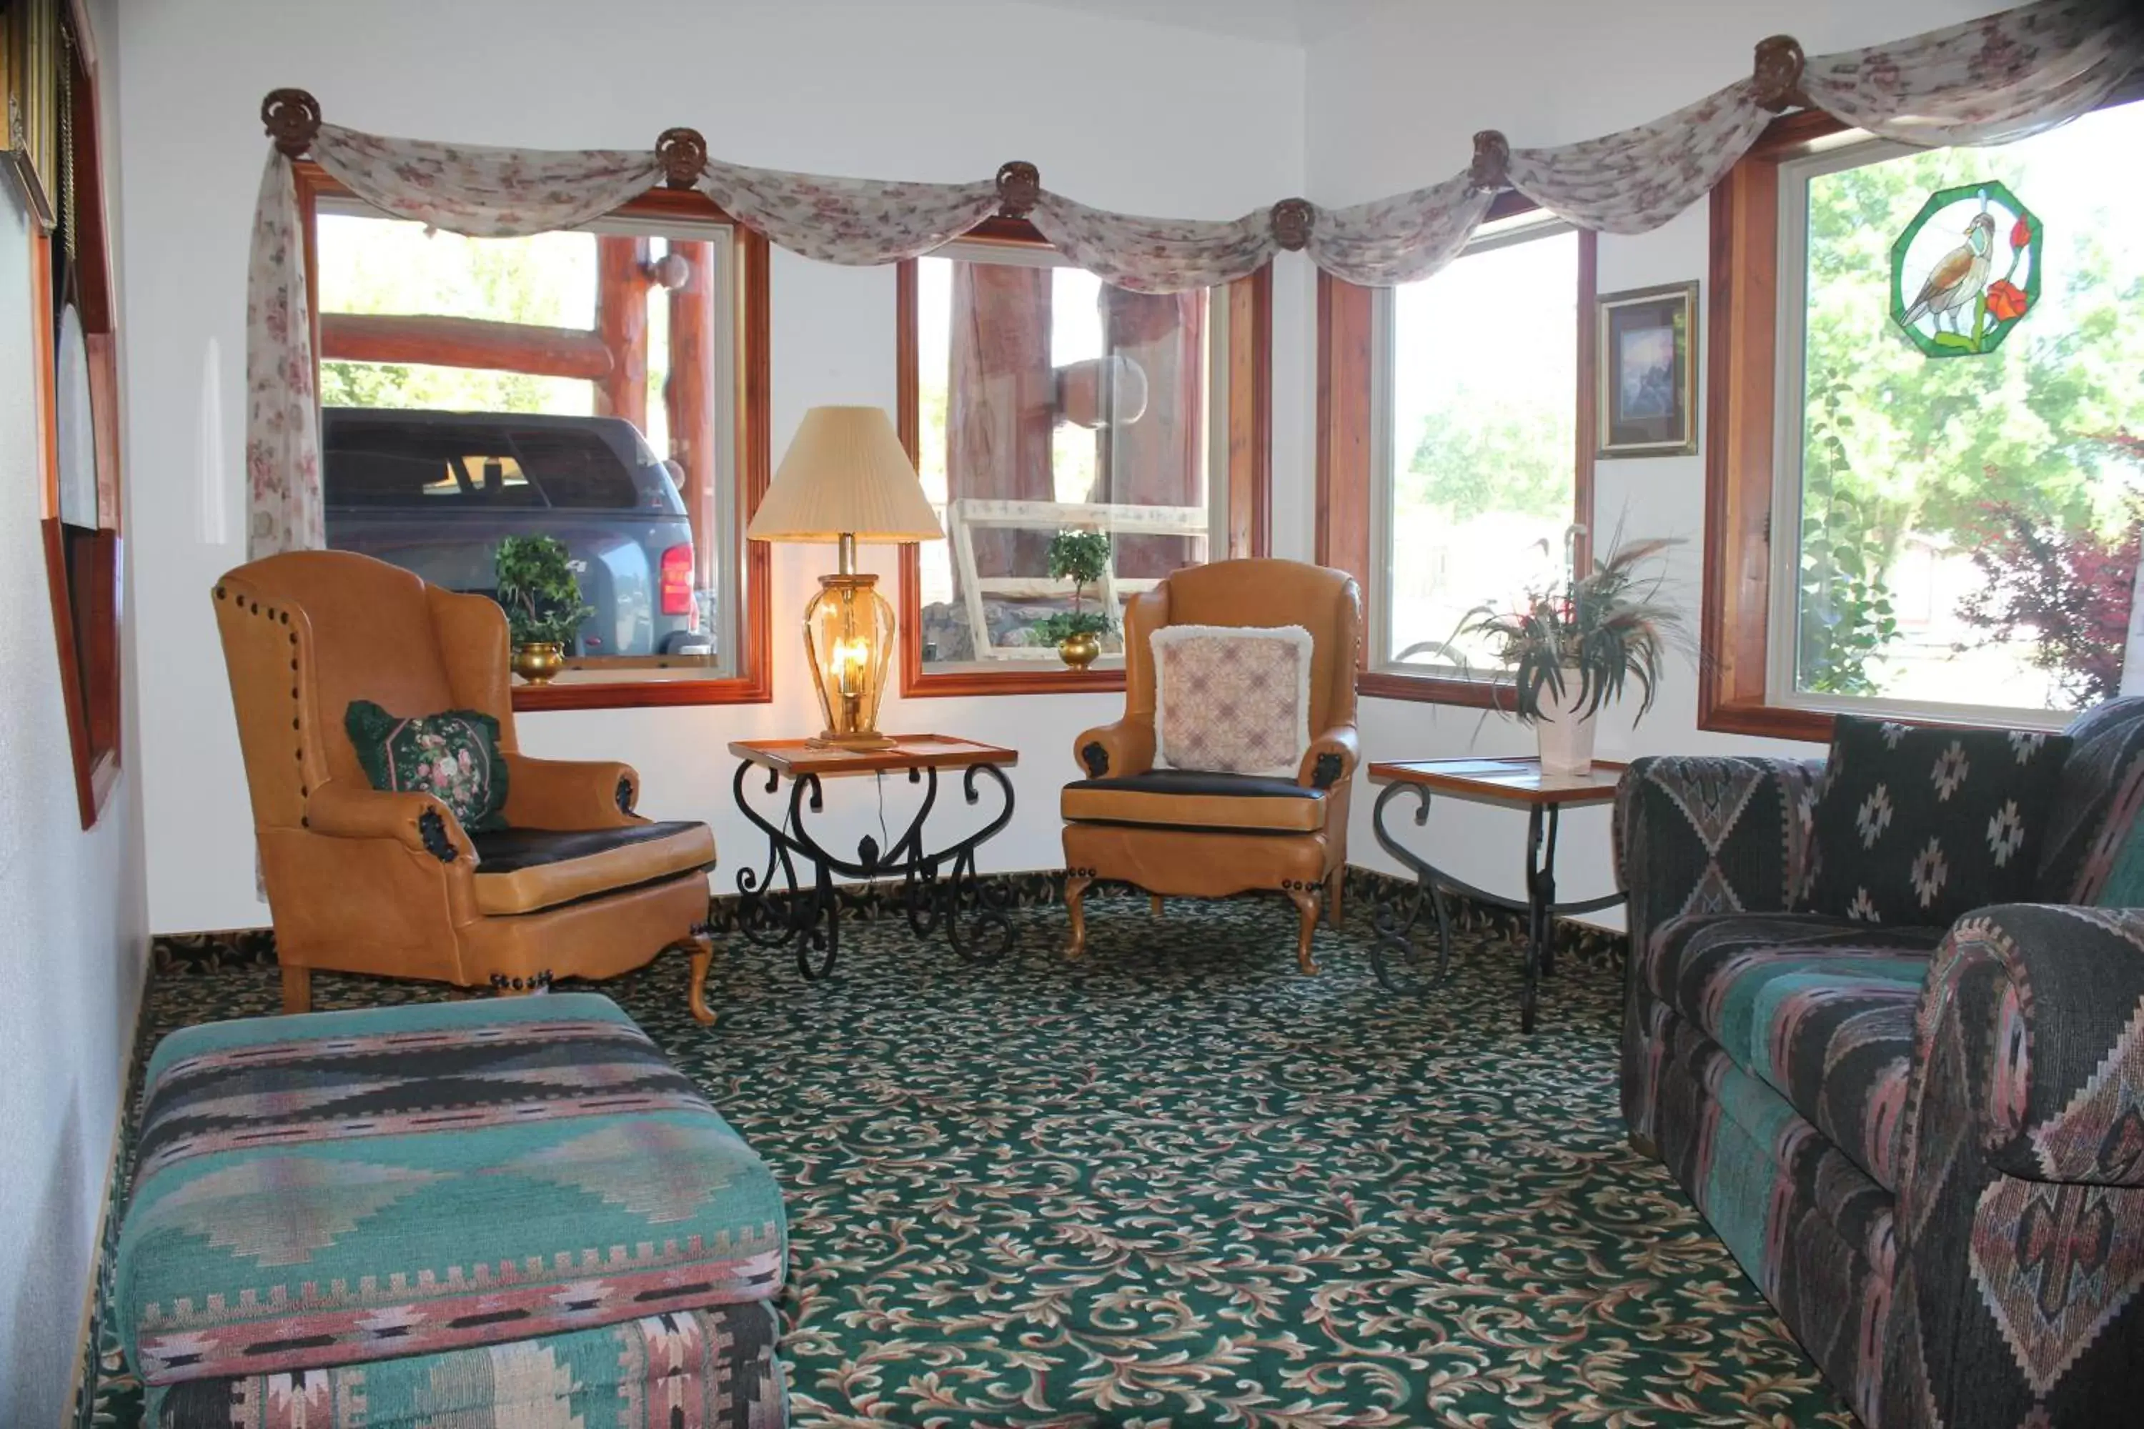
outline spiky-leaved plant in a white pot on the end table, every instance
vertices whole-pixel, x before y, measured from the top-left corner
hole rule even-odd
[[[1578,527],[1572,527],[1572,536]],[[1683,632],[1683,615],[1659,600],[1659,553],[1677,540],[1617,544],[1608,559],[1578,574],[1574,542],[1565,538],[1563,581],[1529,589],[1514,611],[1475,606],[1454,638],[1488,636],[1499,662],[1512,671],[1514,707],[1533,724],[1542,773],[1593,769],[1593,716],[1638,681],[1638,718],[1653,707],[1668,645]]]

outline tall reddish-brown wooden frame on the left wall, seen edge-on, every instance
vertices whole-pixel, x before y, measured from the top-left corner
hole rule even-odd
[[[75,769],[75,806],[92,829],[120,782],[120,621],[124,619],[124,542],[120,538],[118,304],[111,289],[111,234],[105,216],[103,133],[96,56],[88,17],[66,9],[73,43],[71,133],[75,165],[75,285],[90,366],[90,439],[96,450],[96,529],[60,521],[58,309],[54,234],[30,221],[30,321],[39,471],[39,536],[60,656],[60,698]],[[69,54],[62,47],[62,54]]]

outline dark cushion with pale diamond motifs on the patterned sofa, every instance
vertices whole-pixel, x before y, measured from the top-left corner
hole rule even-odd
[[[1812,913],[1949,928],[2039,878],[2067,735],[1837,716]]]

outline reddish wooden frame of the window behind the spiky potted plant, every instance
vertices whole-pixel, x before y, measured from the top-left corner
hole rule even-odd
[[[1518,193],[1501,193],[1490,204],[1486,221],[1514,219],[1539,206]],[[1599,236],[1578,234],[1578,409],[1572,454],[1572,521],[1582,527],[1576,559],[1584,566],[1593,553],[1593,446],[1595,446],[1595,349],[1599,345]],[[1458,259],[1454,259],[1458,261]],[[1316,546],[1321,566],[1334,566],[1361,583],[1364,600],[1379,600],[1383,572],[1372,570],[1374,529],[1370,501],[1376,493],[1372,441],[1374,291],[1357,287],[1329,272],[1319,272],[1319,426],[1316,426]],[[1370,621],[1376,628],[1376,621]],[[1462,705],[1469,709],[1501,709],[1501,690],[1509,679],[1462,679],[1456,675],[1404,675],[1370,668],[1370,641],[1357,651],[1355,692],[1389,701],[1426,705]]]

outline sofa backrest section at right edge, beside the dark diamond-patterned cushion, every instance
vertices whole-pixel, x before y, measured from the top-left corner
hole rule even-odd
[[[2144,698],[2086,709],[2048,810],[2033,902],[2105,902],[2108,874],[2144,808]]]

